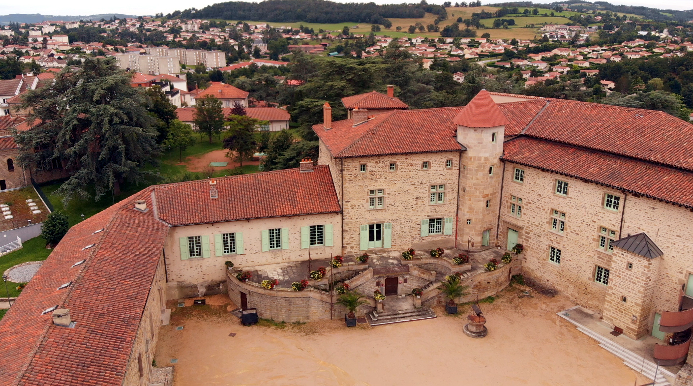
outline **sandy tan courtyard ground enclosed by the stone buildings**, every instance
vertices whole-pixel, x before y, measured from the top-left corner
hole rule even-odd
[[[479,340],[462,333],[462,317],[441,309],[437,319],[374,328],[343,321],[244,327],[227,313],[226,295],[216,295],[211,306],[175,310],[161,328],[156,360],[170,366],[177,358],[175,386],[633,385],[635,371],[557,317],[569,301],[518,293],[511,288],[481,304],[489,335]],[[647,383],[637,376],[638,385]]]

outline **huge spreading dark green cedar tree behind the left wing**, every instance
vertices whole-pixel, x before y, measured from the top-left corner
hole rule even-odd
[[[27,92],[22,108],[31,109],[28,121],[37,127],[19,132],[15,140],[24,166],[45,170],[62,159],[70,177],[56,191],[64,203],[73,195],[91,198],[87,186],[94,184],[94,200],[108,191],[120,193],[125,180],[140,184],[154,175],[142,170],[159,153],[148,100],[130,87],[130,76],[115,60],[87,59],[78,71],[64,69],[55,82]]]

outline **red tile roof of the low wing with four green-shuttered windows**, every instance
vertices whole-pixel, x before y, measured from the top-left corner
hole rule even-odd
[[[294,168],[217,178],[216,199],[209,197],[209,182],[155,186],[159,218],[175,226],[341,211],[326,165],[310,173]]]

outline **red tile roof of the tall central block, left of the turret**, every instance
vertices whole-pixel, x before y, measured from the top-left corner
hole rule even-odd
[[[335,158],[460,151],[453,118],[461,109],[394,110],[356,126],[347,119],[333,122],[330,130],[314,125],[313,131]]]

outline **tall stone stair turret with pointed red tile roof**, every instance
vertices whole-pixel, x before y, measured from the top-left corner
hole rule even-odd
[[[459,227],[457,245],[464,249],[495,246],[498,235],[498,211],[503,166],[505,125],[509,122],[493,102],[489,91],[482,90],[454,119],[457,142],[462,152],[459,169]],[[471,239],[470,239],[471,238]]]

